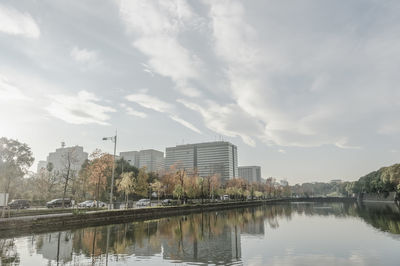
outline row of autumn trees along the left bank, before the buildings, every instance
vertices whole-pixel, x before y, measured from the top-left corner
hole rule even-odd
[[[24,198],[34,203],[45,203],[53,198],[72,198],[75,201],[109,200],[113,156],[99,149],[93,151],[79,170],[74,149],[61,158],[61,168],[48,163],[38,173],[29,173],[34,158],[27,144],[1,138],[0,184],[10,199]],[[15,160],[15,161],[13,161]],[[288,187],[277,186],[274,180],[249,183],[244,179],[223,182],[218,174],[201,177],[195,169],[182,169],[176,165],[158,173],[138,169],[123,158],[115,163],[114,201],[130,199],[176,198],[209,200],[222,195],[232,199],[289,196]]]

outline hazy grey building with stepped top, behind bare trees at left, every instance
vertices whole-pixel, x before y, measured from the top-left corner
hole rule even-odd
[[[42,168],[46,168],[48,163],[52,163],[53,171],[62,173],[66,170],[69,161],[71,163],[70,170],[76,174],[87,159],[88,153],[83,151],[82,146],[65,147],[65,143],[62,142],[61,148],[50,152],[46,161],[39,161],[38,172]]]

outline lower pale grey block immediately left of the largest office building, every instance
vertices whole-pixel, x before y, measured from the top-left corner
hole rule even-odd
[[[164,153],[153,149],[127,151],[119,154],[124,160],[137,168],[146,167],[148,172],[159,172],[164,169]]]

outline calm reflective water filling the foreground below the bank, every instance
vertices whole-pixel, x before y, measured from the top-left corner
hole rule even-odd
[[[5,237],[4,265],[400,265],[399,208],[382,204],[292,203]]]

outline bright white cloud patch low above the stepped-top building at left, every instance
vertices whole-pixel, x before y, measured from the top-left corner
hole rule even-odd
[[[77,96],[53,95],[46,110],[54,117],[70,124],[99,124],[109,125],[108,113],[115,112],[114,108],[99,104],[100,101],[93,93],[80,91]]]

